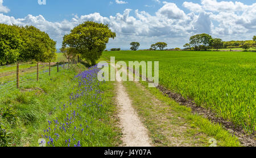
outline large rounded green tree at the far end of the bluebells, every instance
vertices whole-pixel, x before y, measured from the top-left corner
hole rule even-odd
[[[86,59],[92,65],[100,58],[106,49],[109,38],[115,37],[108,25],[95,22],[84,22],[71,30],[71,33],[63,37],[63,48],[76,49],[81,58]]]

